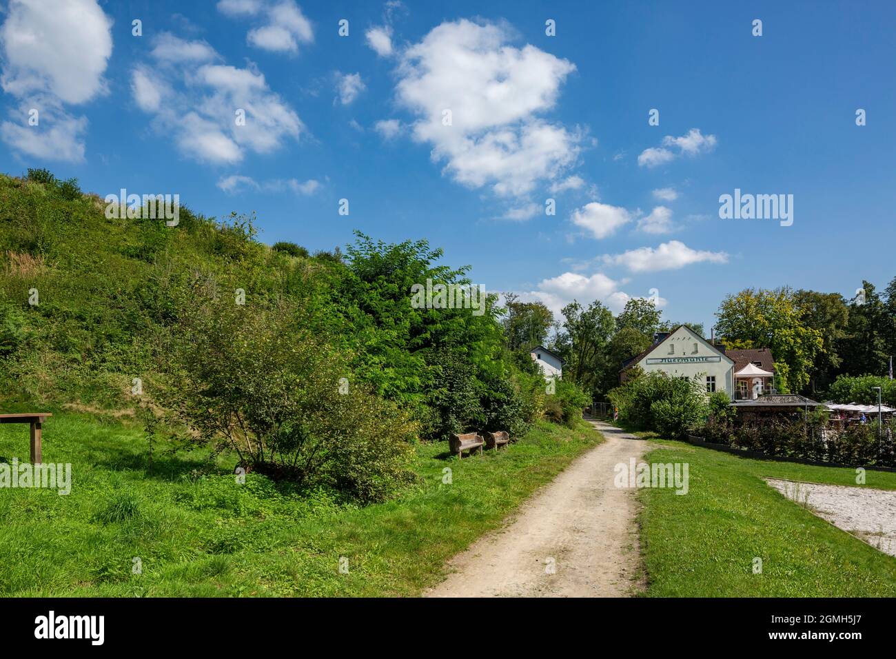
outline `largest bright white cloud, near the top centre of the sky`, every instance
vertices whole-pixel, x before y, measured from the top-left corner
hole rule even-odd
[[[402,53],[396,91],[418,116],[414,138],[432,145],[455,180],[521,196],[560,178],[582,136],[537,116],[556,105],[575,66],[510,38],[495,24],[444,22]]]

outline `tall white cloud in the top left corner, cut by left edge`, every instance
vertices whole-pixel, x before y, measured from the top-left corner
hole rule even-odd
[[[73,28],[76,26],[76,28]],[[84,160],[87,119],[66,105],[108,92],[112,21],[96,0],[12,0],[0,26],[0,86],[20,101],[14,121],[0,124],[13,149],[47,160]],[[39,123],[30,126],[31,109]]]

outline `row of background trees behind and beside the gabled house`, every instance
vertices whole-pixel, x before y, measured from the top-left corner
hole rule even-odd
[[[619,371],[653,343],[658,332],[699,323],[663,318],[652,299],[630,299],[614,315],[595,300],[566,305],[560,317],[541,302],[506,296],[505,333],[513,348],[538,343],[564,360],[564,377],[596,401],[619,383]],[[715,313],[715,340],[726,349],[769,348],[781,393],[827,395],[838,377],[888,375],[896,354],[896,277],[878,292],[862,282],[855,297],[817,290],[745,289],[728,295]]]

